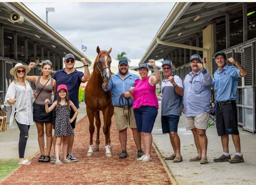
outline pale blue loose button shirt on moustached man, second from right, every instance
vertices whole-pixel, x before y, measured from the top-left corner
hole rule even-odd
[[[186,75],[183,83],[185,116],[210,113],[211,84],[212,77],[206,69],[199,70],[194,76],[193,72]]]

